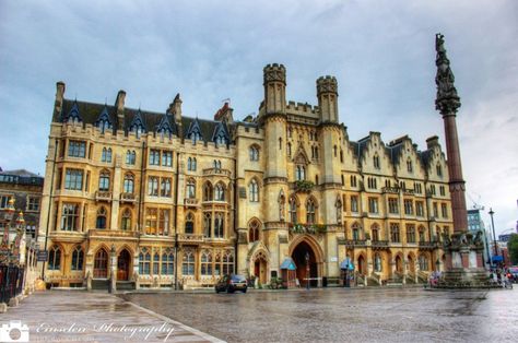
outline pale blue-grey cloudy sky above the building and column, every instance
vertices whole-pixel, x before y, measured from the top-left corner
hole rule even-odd
[[[257,113],[262,68],[287,68],[287,98],[316,104],[315,80],[339,81],[352,140],[380,131],[420,147],[438,134],[435,33],[446,36],[467,201],[518,220],[518,2],[0,0],[0,166],[44,174],[56,82],[66,97],[210,118],[231,98]],[[472,200],[471,200],[472,199]],[[488,223],[488,221],[486,221]]]

